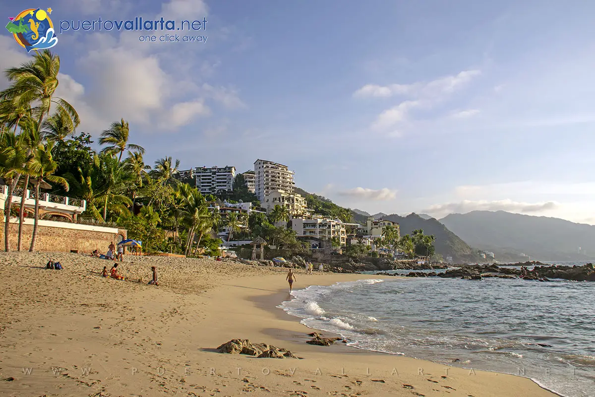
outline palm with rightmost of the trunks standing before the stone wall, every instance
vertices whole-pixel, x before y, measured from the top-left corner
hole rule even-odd
[[[60,183],[68,192],[70,186],[68,182],[60,176],[53,175],[58,169],[58,163],[52,158],[52,149],[54,149],[54,142],[48,142],[46,145],[41,145],[36,149],[36,154],[29,161],[30,168],[35,173],[35,213],[33,215],[33,235],[31,237],[31,246],[29,251],[35,250],[35,240],[37,238],[37,221],[39,220],[39,185],[42,182]]]

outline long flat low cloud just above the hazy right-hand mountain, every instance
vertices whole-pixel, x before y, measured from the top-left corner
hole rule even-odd
[[[460,202],[450,202],[447,204],[431,205],[430,207],[425,208],[425,210],[422,210],[422,211],[428,212],[429,214],[446,215],[446,214],[451,214],[453,212],[458,213],[458,214],[465,214],[466,212],[471,212],[471,211],[508,211],[508,212],[521,212],[521,213],[534,213],[534,212],[556,210],[558,208],[559,208],[559,204],[555,201],[529,203],[529,202],[518,202],[518,201],[512,201],[511,199],[505,199],[505,200],[494,200],[494,201],[463,200]]]

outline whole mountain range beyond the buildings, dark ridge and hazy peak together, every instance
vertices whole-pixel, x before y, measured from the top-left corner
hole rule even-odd
[[[303,194],[309,194],[299,189]],[[332,201],[327,205],[342,208]],[[383,212],[371,215],[352,210],[353,221],[365,224],[369,216],[399,223],[401,235],[422,229],[436,237],[436,252],[456,262],[485,261],[478,250],[491,251],[499,262],[589,261],[595,259],[595,226],[559,218],[512,214],[505,211],[472,211],[450,214],[440,220],[427,214],[406,216]]]

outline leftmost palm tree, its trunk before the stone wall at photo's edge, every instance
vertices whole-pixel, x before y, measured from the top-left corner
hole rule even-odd
[[[14,132],[5,132],[0,140],[0,176],[8,185],[8,195],[4,204],[4,251],[10,251],[8,240],[10,231],[10,207],[12,205],[12,193],[18,185],[21,173],[25,171],[24,164],[27,161],[27,149],[23,136]]]

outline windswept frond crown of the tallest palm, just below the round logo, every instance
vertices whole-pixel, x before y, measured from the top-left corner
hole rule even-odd
[[[20,67],[8,68],[5,75],[10,87],[0,92],[0,99],[14,101],[18,108],[29,108],[36,104],[33,113],[37,118],[37,129],[42,126],[43,118],[49,114],[52,104],[56,112],[70,117],[75,127],[79,126],[79,114],[67,101],[54,98],[58,88],[60,57],[48,49],[36,52],[33,60],[21,64]]]

